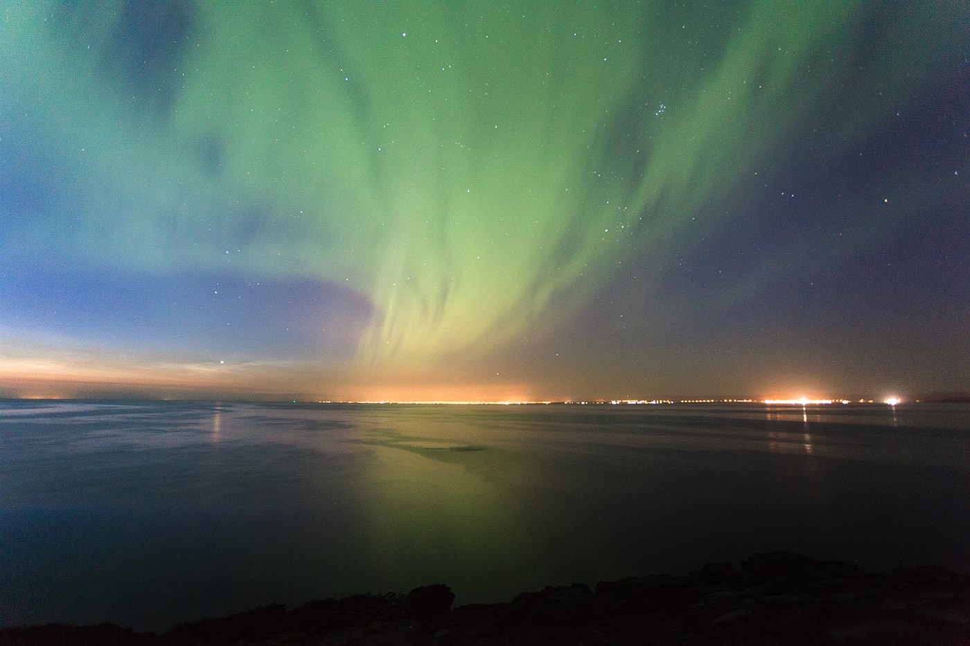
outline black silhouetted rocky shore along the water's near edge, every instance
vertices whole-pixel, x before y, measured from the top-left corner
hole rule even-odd
[[[964,644],[970,576],[939,567],[872,574],[788,552],[756,554],[736,570],[638,576],[546,588],[507,603],[452,609],[444,585],[407,595],[269,605],[183,624],[164,634],[113,624],[0,630],[0,644],[264,646],[515,644]]]

